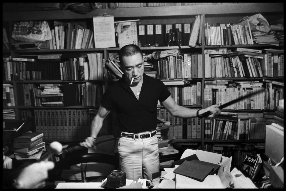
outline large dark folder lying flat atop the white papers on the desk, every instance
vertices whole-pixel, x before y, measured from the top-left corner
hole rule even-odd
[[[189,178],[202,182],[208,175],[211,175],[213,174],[213,172],[216,172],[219,167],[220,165],[216,165],[210,162],[191,160],[184,161],[173,172],[175,174],[187,176]]]

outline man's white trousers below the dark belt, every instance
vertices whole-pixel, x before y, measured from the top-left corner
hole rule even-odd
[[[158,138],[133,139],[119,138],[118,155],[121,171],[126,173],[126,179],[152,179],[154,172],[159,172]]]

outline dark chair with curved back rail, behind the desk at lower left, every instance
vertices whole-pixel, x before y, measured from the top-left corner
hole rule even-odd
[[[52,181],[62,180],[65,182],[101,182],[112,171],[109,168],[107,175],[86,177],[86,172],[90,166],[88,163],[96,163],[95,165],[102,166],[108,165],[114,166],[113,170],[119,168],[119,159],[115,155],[104,153],[88,153],[81,155],[71,155],[61,159],[55,163],[55,167],[50,171],[49,179]],[[79,170],[70,169],[71,166],[80,164]],[[76,177],[76,174],[80,174],[80,178]]]

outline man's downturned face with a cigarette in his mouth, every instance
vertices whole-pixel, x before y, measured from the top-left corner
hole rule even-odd
[[[144,73],[144,63],[143,57],[140,53],[133,56],[122,57],[122,69],[125,74],[126,81],[131,83],[132,78],[134,78],[132,86],[138,84],[143,80]]]

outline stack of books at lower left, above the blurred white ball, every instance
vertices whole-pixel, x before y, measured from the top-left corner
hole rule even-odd
[[[15,159],[38,159],[45,149],[43,133],[26,132],[16,138],[13,142]]]

